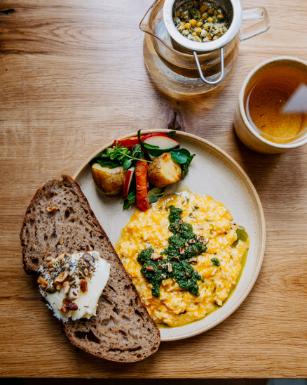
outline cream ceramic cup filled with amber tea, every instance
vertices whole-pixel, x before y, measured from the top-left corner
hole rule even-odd
[[[274,73],[278,81],[274,80]],[[263,126],[262,130],[261,124],[259,126],[254,124],[250,116],[251,106],[247,105],[252,103],[249,97],[257,85],[261,86],[261,82],[265,93],[259,94],[261,100],[257,100],[257,105],[254,107],[258,107],[260,117],[264,115],[261,119],[266,119],[268,114],[267,122],[264,122],[268,126],[265,129]],[[261,92],[261,89],[259,91]],[[277,93],[278,98],[271,99],[273,105],[270,105],[267,97],[271,98],[274,95],[273,91]],[[261,102],[266,105],[261,106]],[[278,154],[305,145],[307,143],[307,63],[290,56],[280,56],[266,60],[254,68],[245,79],[240,91],[234,127],[243,144],[263,154]],[[295,127],[298,132],[292,137],[282,138],[282,133],[293,133]],[[280,136],[271,136],[270,131],[280,133]]]

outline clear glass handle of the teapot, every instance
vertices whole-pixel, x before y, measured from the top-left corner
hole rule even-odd
[[[257,34],[263,34],[271,27],[270,17],[266,8],[257,7],[257,8],[245,8],[243,9],[243,21],[247,20],[262,20],[257,22],[257,24],[251,25],[250,27],[245,28],[245,30],[240,31],[240,41],[250,39],[251,37],[257,36]]]

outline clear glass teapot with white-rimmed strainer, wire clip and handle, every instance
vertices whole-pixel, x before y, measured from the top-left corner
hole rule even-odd
[[[240,0],[215,0],[227,15],[230,27],[219,39],[200,43],[180,34],[173,22],[175,9],[188,1],[154,1],[139,25],[146,32],[144,59],[149,72],[166,88],[179,93],[203,93],[229,77],[240,41],[266,32],[270,19],[266,8],[243,10]],[[258,22],[240,31],[243,20]]]

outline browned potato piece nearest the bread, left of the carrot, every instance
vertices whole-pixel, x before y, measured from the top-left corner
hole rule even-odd
[[[109,169],[101,167],[99,163],[92,166],[92,176],[95,185],[100,193],[104,195],[117,195],[123,190],[125,183],[125,175],[127,171],[123,171],[123,167]]]

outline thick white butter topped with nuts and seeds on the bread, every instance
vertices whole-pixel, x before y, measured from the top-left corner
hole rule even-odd
[[[95,316],[110,266],[98,252],[62,253],[46,261],[39,268],[40,292],[55,317],[67,322]]]

